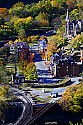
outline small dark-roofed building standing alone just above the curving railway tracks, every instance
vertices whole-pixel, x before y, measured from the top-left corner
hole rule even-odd
[[[24,74],[16,73],[16,74],[13,75],[13,82],[14,82],[14,84],[24,83],[24,81],[25,81]]]

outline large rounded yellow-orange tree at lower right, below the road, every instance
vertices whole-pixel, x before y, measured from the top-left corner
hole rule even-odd
[[[68,87],[59,100],[59,104],[65,111],[80,112],[83,109],[83,83]]]

